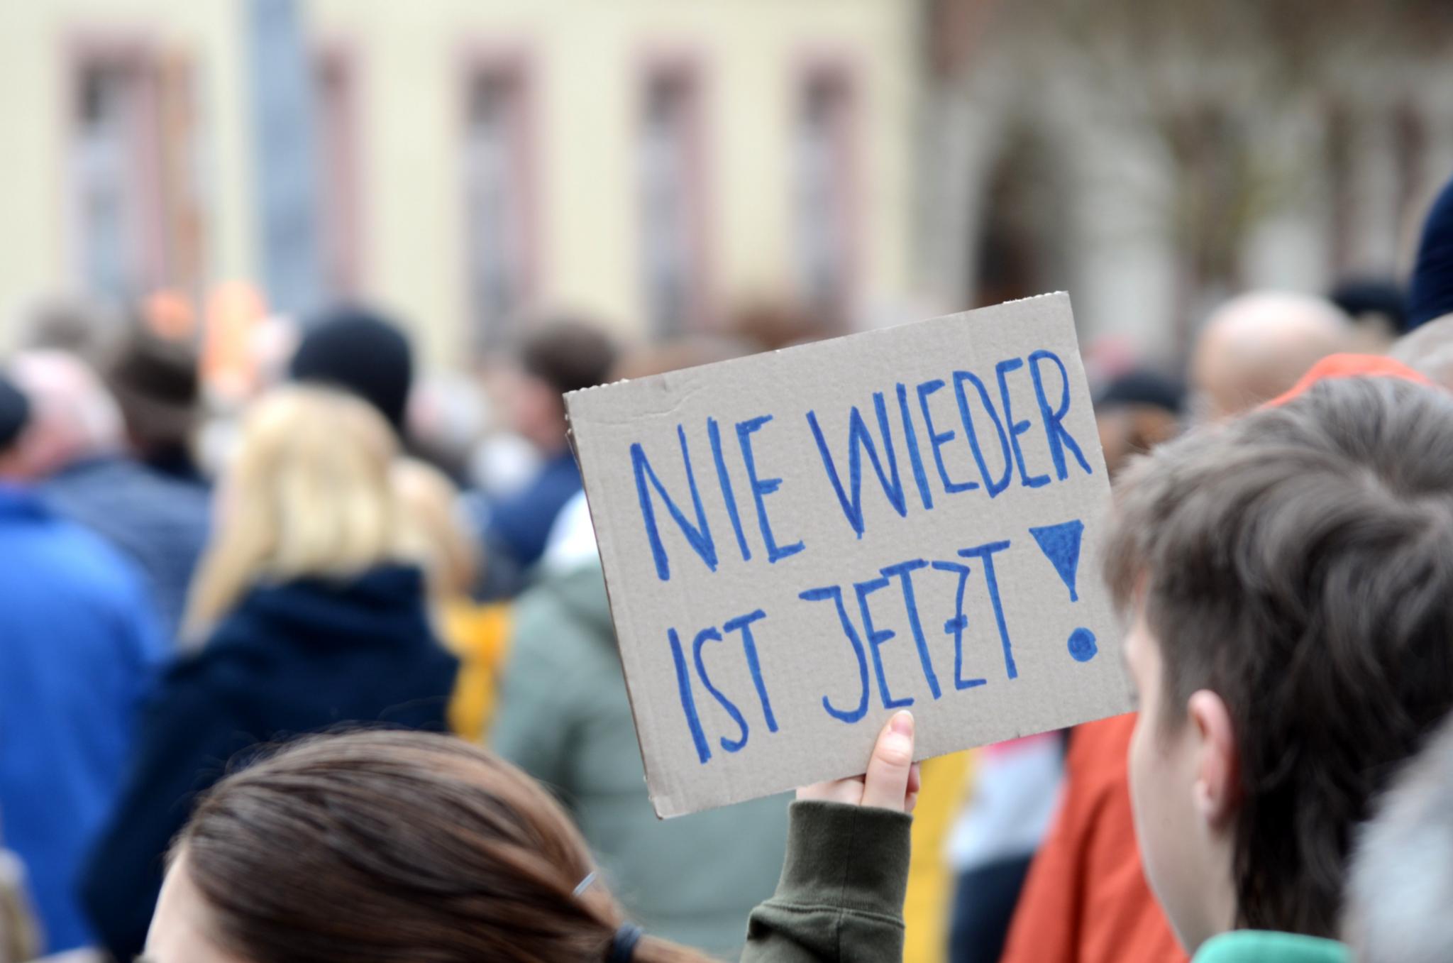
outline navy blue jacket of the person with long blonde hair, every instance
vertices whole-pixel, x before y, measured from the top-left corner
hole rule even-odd
[[[456,668],[430,630],[417,569],[247,594],[171,668],[142,719],[126,790],[86,870],[106,948],[118,960],[141,951],[167,847],[238,752],[350,723],[442,732]]]

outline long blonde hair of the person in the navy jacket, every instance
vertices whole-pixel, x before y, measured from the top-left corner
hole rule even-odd
[[[391,478],[397,455],[384,418],[352,395],[286,386],[260,399],[222,481],[186,633],[209,629],[259,582],[417,561]]]

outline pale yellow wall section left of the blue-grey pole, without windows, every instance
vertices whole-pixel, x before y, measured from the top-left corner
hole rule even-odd
[[[235,0],[22,0],[0,3],[0,344],[17,311],[71,288],[65,71],[78,35],[144,41],[193,64],[199,177],[211,280],[253,277],[247,87]]]

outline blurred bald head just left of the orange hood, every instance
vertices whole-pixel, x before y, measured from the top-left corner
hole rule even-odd
[[[1218,308],[1200,331],[1190,376],[1196,414],[1219,421],[1296,383],[1328,354],[1353,350],[1347,315],[1322,298],[1254,292]]]

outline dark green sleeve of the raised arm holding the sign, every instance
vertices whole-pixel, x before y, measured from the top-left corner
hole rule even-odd
[[[895,963],[912,818],[888,809],[792,803],[776,895],[747,927],[742,963]]]

